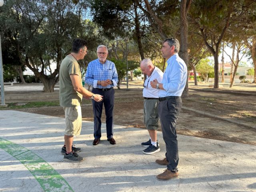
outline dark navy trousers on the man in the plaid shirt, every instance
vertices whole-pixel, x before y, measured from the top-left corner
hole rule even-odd
[[[93,88],[92,93],[100,94],[103,96],[103,100],[101,102],[96,102],[92,100],[93,106],[93,114],[94,114],[94,138],[101,138],[101,116],[102,116],[102,108],[104,104],[105,114],[106,114],[106,130],[107,130],[107,138],[113,138],[113,110],[114,110],[114,88],[110,90],[103,91],[102,89]]]

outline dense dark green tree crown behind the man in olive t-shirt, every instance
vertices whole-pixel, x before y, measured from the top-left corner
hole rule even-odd
[[[0,20],[4,21],[0,22],[4,48],[12,45],[15,60],[26,64],[45,82],[47,91],[53,91],[52,84],[58,81],[60,62],[70,52],[72,40],[86,37],[82,23],[84,10],[86,2],[81,1],[74,5],[66,0],[8,0],[0,12]],[[56,69],[50,69],[53,62]],[[50,76],[45,74],[46,68]]]

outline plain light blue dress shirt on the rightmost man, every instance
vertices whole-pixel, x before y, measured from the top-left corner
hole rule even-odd
[[[159,97],[181,96],[186,85],[187,75],[187,66],[178,53],[171,56],[167,60],[162,80],[164,90],[159,90]]]

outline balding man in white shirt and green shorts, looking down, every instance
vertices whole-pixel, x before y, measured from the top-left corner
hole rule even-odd
[[[143,97],[144,97],[144,123],[149,133],[149,140],[141,143],[142,146],[147,147],[143,150],[144,154],[153,154],[160,151],[159,144],[157,142],[157,128],[158,128],[158,89],[154,89],[150,85],[150,81],[157,79],[158,82],[162,82],[163,72],[152,64],[150,59],[144,59],[140,62],[140,68],[147,78],[143,85]]]

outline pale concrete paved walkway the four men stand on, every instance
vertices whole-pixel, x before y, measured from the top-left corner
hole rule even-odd
[[[142,153],[147,130],[114,126],[117,144],[93,146],[93,123],[83,122],[74,144],[85,160],[63,161],[64,118],[0,111],[0,191],[4,192],[256,192],[256,146],[178,135],[180,177],[158,181],[161,151]]]

